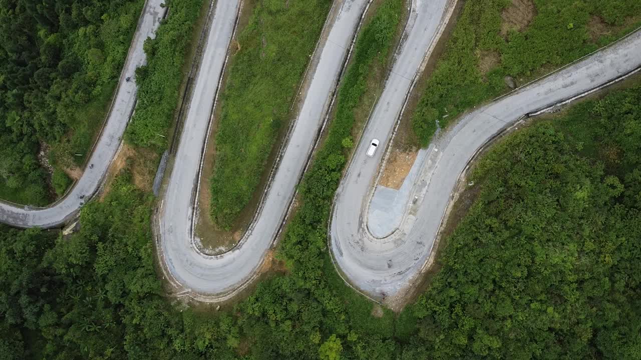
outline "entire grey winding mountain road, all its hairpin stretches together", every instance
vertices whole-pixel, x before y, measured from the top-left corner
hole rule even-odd
[[[229,299],[256,275],[278,237],[296,193],[296,186],[312,154],[315,140],[331,108],[345,58],[353,45],[368,0],[336,0],[306,79],[304,99],[287,143],[267,186],[258,213],[238,245],[208,256],[194,241],[194,199],[198,172],[221,84],[229,44],[241,0],[217,1],[204,38],[203,56],[194,90],[156,214],[156,249],[165,278],[179,293],[201,301]],[[29,208],[0,202],[0,222],[15,227],[56,227],[78,213],[83,201],[99,190],[121,145],[122,134],[135,106],[135,82],[125,82],[145,63],[142,46],[153,37],[163,9],[162,0],[147,0],[129,51],[117,94],[101,137],[85,173],[64,199],[48,208]],[[422,156],[404,213],[390,222],[389,231],[369,231],[370,200],[394,124],[403,109],[413,79],[424,67],[453,4],[448,0],[413,0],[403,42],[385,90],[356,148],[340,184],[330,225],[332,258],[346,281],[372,297],[394,295],[411,286],[428,261],[431,248],[456,182],[470,158],[497,133],[522,115],[586,92],[641,66],[641,32],[593,54],[537,83],[524,86],[463,117],[444,131]],[[381,140],[373,158],[365,156],[369,140]],[[81,199],[83,197],[84,199]],[[398,214],[397,214],[398,215]],[[379,220],[380,221],[380,220]],[[381,229],[372,226],[372,229]]]

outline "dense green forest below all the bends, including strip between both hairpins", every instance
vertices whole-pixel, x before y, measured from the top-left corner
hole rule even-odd
[[[337,119],[281,240],[285,270],[230,311],[171,304],[154,269],[153,197],[124,170],[81,229],[0,229],[2,359],[638,359],[641,86],[535,120],[491,149],[428,290],[402,313],[349,290],[329,206],[368,66],[398,19],[363,29]]]

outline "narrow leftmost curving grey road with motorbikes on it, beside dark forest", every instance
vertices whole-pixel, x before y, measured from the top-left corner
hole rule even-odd
[[[147,37],[154,37],[160,20],[167,10],[160,6],[162,3],[163,0],[147,0],[140,20],[138,20],[138,28],[129,48],[110,113],[88,161],[88,164],[94,166],[92,168],[87,166],[83,176],[67,193],[67,196],[47,208],[33,208],[0,202],[0,222],[15,227],[50,228],[60,226],[74,218],[82,204],[103,184],[109,165],[121,145],[122,134],[129,121],[131,111],[136,104],[135,70],[146,62],[142,45]],[[127,77],[131,77],[131,81],[126,82],[125,78]]]

